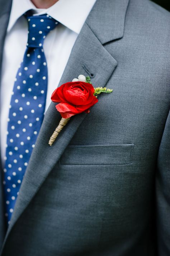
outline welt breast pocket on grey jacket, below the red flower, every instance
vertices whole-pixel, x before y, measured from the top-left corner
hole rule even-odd
[[[128,165],[134,144],[69,145],[59,160],[63,165]]]

